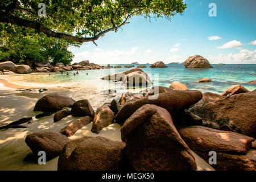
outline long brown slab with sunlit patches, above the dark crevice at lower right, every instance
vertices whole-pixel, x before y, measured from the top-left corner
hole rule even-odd
[[[214,130],[204,126],[180,127],[177,130],[193,151],[244,155],[254,141],[254,138],[232,131]]]

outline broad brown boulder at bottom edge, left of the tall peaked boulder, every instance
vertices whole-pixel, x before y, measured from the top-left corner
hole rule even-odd
[[[104,137],[83,137],[63,148],[59,171],[117,171],[122,168],[125,143]]]

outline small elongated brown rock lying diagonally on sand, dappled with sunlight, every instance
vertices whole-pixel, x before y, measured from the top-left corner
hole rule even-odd
[[[92,122],[92,118],[90,118],[89,116],[82,117],[80,119],[77,119],[76,121],[69,123],[68,126],[60,130],[60,133],[66,135],[67,137],[71,137],[78,130],[80,130],[85,125],[88,125],[90,122]]]

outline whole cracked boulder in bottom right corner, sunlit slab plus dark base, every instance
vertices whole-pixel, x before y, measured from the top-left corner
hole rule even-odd
[[[214,130],[203,126],[177,128],[189,148],[208,161],[210,151],[217,154],[217,170],[255,170],[255,151],[250,150],[254,138],[231,131]],[[253,152],[251,152],[253,151]]]

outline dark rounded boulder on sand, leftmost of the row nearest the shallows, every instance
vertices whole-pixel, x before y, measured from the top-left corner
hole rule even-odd
[[[34,107],[34,110],[56,112],[63,107],[72,106],[75,103],[73,98],[61,93],[50,93],[40,98]]]

